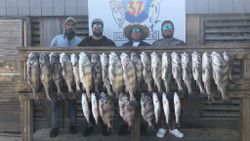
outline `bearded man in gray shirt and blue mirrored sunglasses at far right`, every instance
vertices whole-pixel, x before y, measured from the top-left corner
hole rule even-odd
[[[174,24],[172,21],[166,20],[161,25],[161,33],[163,38],[155,41],[153,46],[179,46],[185,43],[174,38]]]

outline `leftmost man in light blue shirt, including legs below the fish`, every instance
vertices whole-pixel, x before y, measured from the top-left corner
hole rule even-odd
[[[55,36],[50,44],[50,47],[63,47],[63,48],[70,48],[76,47],[80,42],[81,39],[75,35],[77,21],[73,17],[68,17],[64,22],[64,33]],[[70,126],[69,126],[69,133],[75,134],[77,132],[76,129],[76,117],[77,117],[77,110],[76,110],[76,100],[69,100],[68,101],[68,110],[69,110],[69,117],[70,117]],[[57,137],[59,134],[59,125],[60,125],[60,109],[62,107],[62,100],[58,100],[57,98],[53,98],[51,101],[51,126],[52,129],[50,131],[50,137]]]

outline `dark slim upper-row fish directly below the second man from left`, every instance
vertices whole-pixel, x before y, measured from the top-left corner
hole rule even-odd
[[[100,57],[97,54],[91,54],[92,63],[92,76],[94,81],[95,92],[100,93],[100,87],[102,84],[102,65],[100,62]]]

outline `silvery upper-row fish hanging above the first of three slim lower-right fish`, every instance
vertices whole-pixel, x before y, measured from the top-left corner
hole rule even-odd
[[[151,72],[154,83],[157,86],[158,93],[162,92],[161,89],[161,59],[156,52],[151,53]]]

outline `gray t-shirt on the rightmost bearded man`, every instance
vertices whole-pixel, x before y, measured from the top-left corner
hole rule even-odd
[[[176,38],[162,38],[153,43],[153,46],[179,46],[184,45],[185,43],[179,39]]]

